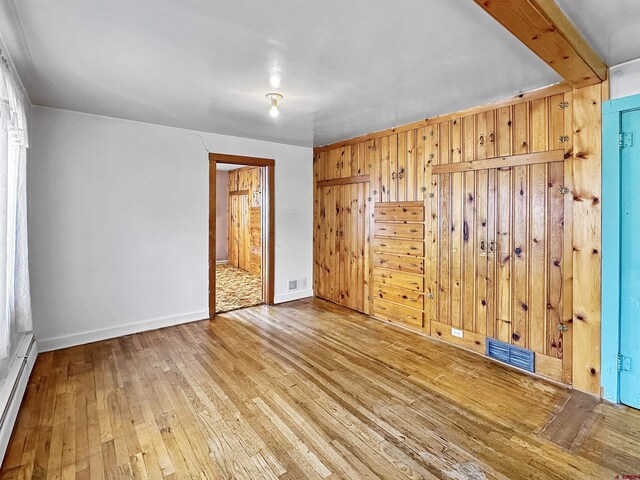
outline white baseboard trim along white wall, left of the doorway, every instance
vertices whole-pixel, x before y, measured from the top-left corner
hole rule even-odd
[[[72,335],[45,338],[38,340],[38,345],[40,346],[41,352],[48,352],[51,350],[59,350],[61,348],[75,347],[76,345],[84,345],[85,343],[98,342],[108,338],[131,335],[132,333],[145,332],[147,330],[155,330],[157,328],[195,322],[196,320],[205,320],[207,318],[209,318],[209,312],[207,310],[184,313],[181,315],[172,315],[170,317],[154,318],[152,320],[144,320],[142,322],[118,325],[116,327],[107,327],[99,330],[74,333]]]

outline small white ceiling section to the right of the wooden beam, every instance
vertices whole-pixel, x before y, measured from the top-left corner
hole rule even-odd
[[[640,1],[556,2],[607,65],[640,58]]]

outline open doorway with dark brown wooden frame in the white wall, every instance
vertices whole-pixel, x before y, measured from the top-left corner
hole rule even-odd
[[[273,304],[272,159],[209,154],[209,315]]]

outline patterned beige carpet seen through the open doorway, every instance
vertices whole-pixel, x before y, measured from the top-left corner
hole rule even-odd
[[[216,265],[216,313],[262,303],[262,280],[258,275],[231,265]]]

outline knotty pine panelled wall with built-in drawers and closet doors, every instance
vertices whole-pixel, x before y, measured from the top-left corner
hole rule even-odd
[[[532,350],[536,373],[598,395],[600,101],[600,85],[558,85],[317,148],[317,294],[340,303],[323,276],[349,257],[330,255],[318,184],[368,175],[372,315],[479,353],[487,337]],[[409,202],[421,257],[406,212],[379,215]]]

